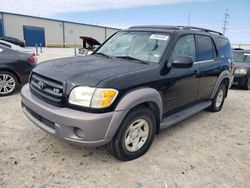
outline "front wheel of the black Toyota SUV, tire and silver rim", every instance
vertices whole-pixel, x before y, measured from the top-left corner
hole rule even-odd
[[[138,128],[140,125],[142,126]],[[124,118],[109,143],[109,149],[114,157],[121,161],[141,157],[150,148],[155,130],[156,120],[153,112],[146,107],[135,108]]]

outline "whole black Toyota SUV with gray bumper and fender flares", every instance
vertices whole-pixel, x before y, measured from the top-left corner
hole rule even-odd
[[[222,109],[232,50],[221,33],[183,26],[134,26],[92,55],[40,63],[22,89],[26,116],[82,146],[108,144],[120,160],[149,149],[160,129]]]

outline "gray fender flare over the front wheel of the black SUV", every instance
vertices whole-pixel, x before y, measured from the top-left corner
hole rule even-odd
[[[159,116],[161,119],[162,99],[159,92],[153,88],[140,88],[132,90],[125,94],[116,106],[114,115],[105,134],[105,138],[111,140],[130,109],[145,102],[153,102],[157,105],[160,112]]]

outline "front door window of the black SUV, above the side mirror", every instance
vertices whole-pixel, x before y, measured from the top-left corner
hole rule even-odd
[[[172,59],[178,56],[190,56],[196,60],[194,35],[186,35],[178,39],[172,53]]]

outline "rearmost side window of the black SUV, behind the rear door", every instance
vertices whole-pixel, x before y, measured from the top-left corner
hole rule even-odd
[[[218,37],[216,40],[219,57],[233,57],[232,48],[227,38]]]

